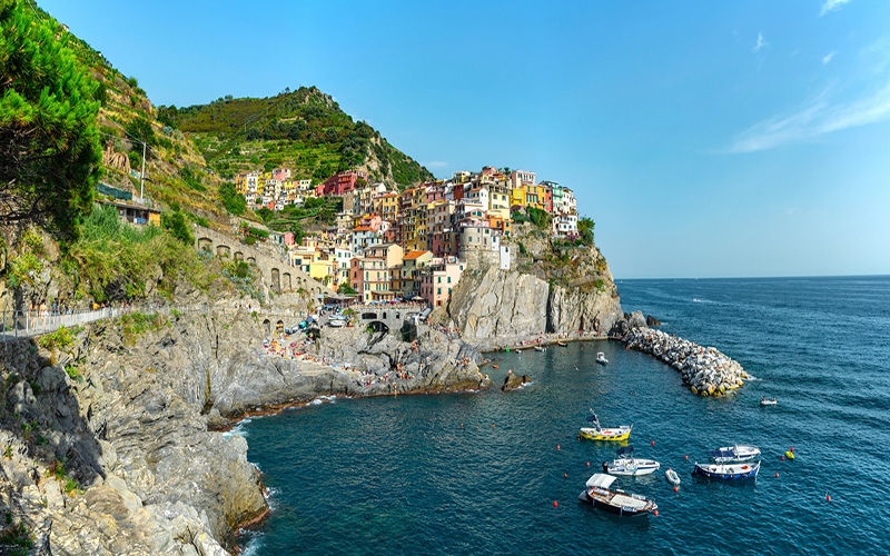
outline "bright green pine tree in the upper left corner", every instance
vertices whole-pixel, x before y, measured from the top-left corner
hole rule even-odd
[[[0,225],[76,237],[100,172],[103,91],[27,1],[0,0]]]

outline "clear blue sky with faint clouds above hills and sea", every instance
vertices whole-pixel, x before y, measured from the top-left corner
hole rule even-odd
[[[39,3],[156,105],[314,85],[567,185],[616,278],[890,274],[890,2]]]

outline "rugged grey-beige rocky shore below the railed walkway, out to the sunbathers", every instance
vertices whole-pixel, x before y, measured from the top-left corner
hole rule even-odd
[[[322,395],[491,386],[478,351],[439,332],[406,344],[332,331],[308,349],[323,365],[259,355],[257,320],[123,319],[70,344],[7,345],[0,509],[22,542],[55,555],[230,554],[235,530],[268,507],[246,441],[212,430],[227,417]]]

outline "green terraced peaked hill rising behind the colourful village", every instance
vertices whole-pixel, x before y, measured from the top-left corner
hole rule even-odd
[[[209,105],[159,107],[158,119],[186,132],[224,178],[285,167],[314,181],[348,168],[403,187],[433,179],[426,168],[364,121],[353,121],[315,87],[264,99],[226,97]]]

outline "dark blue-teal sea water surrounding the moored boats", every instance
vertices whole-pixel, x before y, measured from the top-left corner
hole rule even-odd
[[[571,344],[498,354],[496,381],[511,367],[534,379],[518,391],[345,399],[254,419],[239,431],[274,510],[243,537],[247,552],[888,554],[889,277],[617,286],[625,310],[759,380],[701,398],[617,342]],[[593,365],[597,349],[607,368]],[[779,405],[761,408],[764,395]],[[589,408],[603,425],[633,424],[637,455],[680,473],[678,494],[662,473],[615,483],[654,498],[657,517],[576,499],[614,449],[576,439]],[[734,441],[763,450],[756,480],[690,476],[705,450]],[[797,459],[781,460],[791,446]]]

